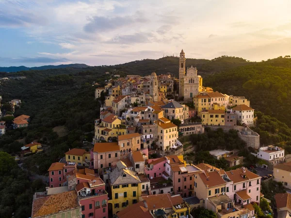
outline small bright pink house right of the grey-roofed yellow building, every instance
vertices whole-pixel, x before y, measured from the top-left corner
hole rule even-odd
[[[162,172],[166,168],[166,158],[149,159],[148,167],[145,168],[145,173],[149,179],[162,177]]]

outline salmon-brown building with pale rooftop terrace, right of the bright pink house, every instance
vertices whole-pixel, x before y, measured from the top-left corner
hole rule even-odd
[[[174,193],[183,198],[194,196],[194,175],[201,173],[193,164],[180,164],[171,167],[171,178],[174,185]]]

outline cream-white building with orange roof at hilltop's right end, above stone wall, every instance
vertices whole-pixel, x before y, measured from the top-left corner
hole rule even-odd
[[[241,104],[232,108],[232,111],[237,115],[237,120],[240,124],[246,124],[248,126],[254,125],[254,109]]]

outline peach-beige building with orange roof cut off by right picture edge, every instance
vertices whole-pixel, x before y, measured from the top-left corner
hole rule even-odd
[[[274,166],[274,180],[291,189],[291,162]]]

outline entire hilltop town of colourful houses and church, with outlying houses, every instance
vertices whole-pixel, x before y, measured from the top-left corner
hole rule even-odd
[[[92,142],[83,142],[92,146],[69,149],[51,163],[46,191],[33,196],[32,218],[191,218],[197,208],[218,218],[254,218],[260,202],[271,202],[261,192],[265,180],[274,177],[290,186],[290,179],[281,175],[291,171],[284,149],[260,146],[252,128],[258,119],[252,102],[203,86],[198,69],[186,68],[186,61],[181,50],[178,78],[106,72],[111,77],[104,86],[93,83],[100,114]],[[9,104],[15,111],[21,100]],[[12,117],[10,129],[30,126],[29,115],[4,113]],[[0,121],[0,135],[6,129]],[[239,149],[228,151],[224,145],[207,151],[215,164],[203,158],[194,164],[189,141],[210,131],[233,131],[250,155],[261,160],[259,166],[245,164],[248,158]],[[19,157],[42,152],[42,143],[32,141],[21,147]],[[288,197],[277,194],[275,201]],[[264,213],[274,215],[269,207]]]

